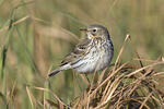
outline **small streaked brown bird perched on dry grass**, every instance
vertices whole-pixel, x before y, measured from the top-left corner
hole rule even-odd
[[[49,77],[69,69],[82,74],[93,73],[110,64],[114,45],[107,28],[99,24],[92,24],[80,31],[85,32],[86,37],[81,39],[61,64],[48,74]]]

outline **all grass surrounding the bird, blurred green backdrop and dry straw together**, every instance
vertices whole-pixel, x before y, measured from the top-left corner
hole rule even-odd
[[[0,0],[0,107],[3,109],[164,107],[163,1]],[[115,46],[113,64],[87,75],[47,78],[102,24]],[[131,36],[127,36],[130,34]]]

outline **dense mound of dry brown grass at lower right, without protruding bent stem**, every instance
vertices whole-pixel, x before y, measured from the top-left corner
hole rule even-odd
[[[153,68],[164,62],[154,62],[143,68],[128,63],[117,65],[107,77],[90,86],[73,101],[74,109],[156,109],[164,107],[164,93],[157,89]],[[102,76],[102,75],[101,75]],[[101,77],[99,76],[99,77]]]

